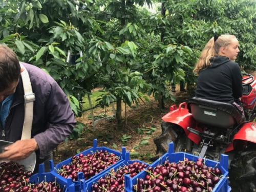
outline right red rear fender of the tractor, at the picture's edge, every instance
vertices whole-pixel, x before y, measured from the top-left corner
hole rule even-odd
[[[228,145],[225,152],[232,151],[234,149],[233,143],[236,140],[250,141],[256,143],[256,123],[245,123],[236,135],[233,137],[233,142]]]

